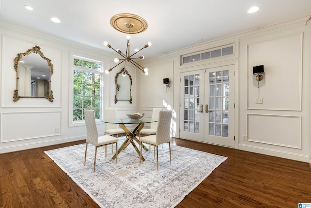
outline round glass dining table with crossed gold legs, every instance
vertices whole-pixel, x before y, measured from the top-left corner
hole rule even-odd
[[[158,118],[150,118],[150,117],[142,117],[140,119],[131,119],[131,118],[109,118],[109,119],[104,119],[102,120],[104,123],[112,123],[112,124],[119,124],[119,126],[121,127],[121,129],[124,130],[125,134],[126,134],[126,139],[124,140],[124,142],[122,143],[121,147],[118,149],[118,154],[124,150],[129,144],[132,144],[134,149],[137,151],[138,156],[141,156],[141,160],[145,160],[143,158],[143,156],[140,154],[140,151],[138,150],[136,144],[134,141],[136,141],[138,144],[140,144],[139,139],[136,137],[137,135],[139,135],[140,130],[144,127],[145,123],[153,123],[153,122],[157,122]],[[136,125],[136,127],[131,131],[129,130],[125,125],[132,125],[134,124],[134,126]],[[146,146],[142,145],[142,148],[145,151],[148,151],[148,148],[146,148]],[[113,155],[112,159],[116,158],[116,154]]]

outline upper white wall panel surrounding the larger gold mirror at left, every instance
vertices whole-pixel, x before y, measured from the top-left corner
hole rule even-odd
[[[2,108],[23,108],[23,107],[60,107],[61,106],[61,80],[62,80],[62,50],[47,47],[30,40],[22,40],[10,36],[3,36],[2,50],[2,78],[0,80],[1,89],[1,107]],[[25,53],[28,49],[40,46],[45,57],[51,59],[53,64],[53,75],[51,76],[51,90],[53,91],[53,102],[45,98],[20,98],[14,102],[14,90],[17,88],[17,72],[14,69],[14,59],[18,53]],[[21,84],[21,83],[20,83]]]

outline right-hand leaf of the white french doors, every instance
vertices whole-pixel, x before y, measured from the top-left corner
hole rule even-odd
[[[234,68],[234,65],[216,67],[206,73],[209,80],[205,94],[208,103],[205,113],[206,142],[234,146],[234,121],[229,120],[229,115],[234,114],[234,93],[229,94],[229,87],[230,92],[234,92]]]

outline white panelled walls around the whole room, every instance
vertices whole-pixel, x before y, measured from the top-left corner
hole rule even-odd
[[[184,70],[180,56],[236,42],[239,53],[231,60],[239,62],[236,70],[235,103],[239,118],[236,121],[236,148],[311,162],[311,85],[308,83],[311,79],[311,23],[306,24],[307,19],[295,19],[146,59],[142,64],[148,67],[148,76],[127,67],[133,78],[133,104],[128,101],[114,103],[114,76],[121,67],[114,69],[111,74],[104,75],[104,107],[117,107],[120,116],[131,112],[151,116],[155,107],[172,109],[173,136],[178,137],[179,75]],[[104,70],[114,66],[114,56],[2,22],[0,34],[0,153],[84,139],[86,129],[82,124],[69,127],[71,56],[103,61]],[[16,87],[13,60],[17,53],[35,45],[41,47],[54,65],[54,102],[42,98],[21,98],[13,102]],[[193,67],[200,67],[200,63],[195,64]],[[252,75],[252,67],[256,65],[264,65],[265,70],[259,89]],[[171,82],[167,92],[163,78],[169,78]],[[256,104],[256,97],[262,97],[263,103]],[[34,125],[24,125],[29,121]],[[98,126],[103,133],[104,124]],[[57,128],[59,133],[55,132]]]

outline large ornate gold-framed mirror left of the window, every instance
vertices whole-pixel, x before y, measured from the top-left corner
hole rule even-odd
[[[14,69],[17,73],[14,102],[22,97],[46,98],[53,102],[51,90],[53,64],[43,55],[39,46],[17,54]]]

